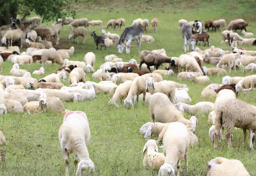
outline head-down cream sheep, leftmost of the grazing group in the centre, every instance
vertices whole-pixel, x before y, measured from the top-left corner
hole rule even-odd
[[[116,90],[112,99],[108,101],[108,103],[110,103],[111,105],[116,105],[116,107],[119,107],[119,105],[117,104],[117,101],[119,99],[122,100],[127,97],[131,85],[132,85],[131,80],[127,80],[124,83],[121,83],[120,85],[118,85],[118,87],[115,88]]]

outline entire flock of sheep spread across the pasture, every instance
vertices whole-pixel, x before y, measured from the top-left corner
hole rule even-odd
[[[234,21],[231,27],[229,25],[228,28],[232,30],[242,29],[236,24],[240,22],[244,24],[245,22],[241,21],[241,19]],[[154,32],[157,32],[158,20],[154,18],[151,22]],[[198,33],[198,35],[203,34],[202,23],[196,21],[195,24],[194,22],[190,23],[191,30],[195,28],[194,32]],[[183,23],[186,23],[186,20],[180,20],[179,27]],[[52,47],[50,37],[54,36],[55,43],[58,45],[61,27],[64,24],[68,24],[70,29],[76,28],[72,30],[68,39],[83,36],[85,42],[87,29],[90,30],[88,28],[89,25],[92,27],[98,25],[103,28],[102,21],[88,22],[86,18],[77,20],[65,18],[64,20],[59,19],[56,24],[53,24],[52,28],[40,28],[40,19],[35,18],[33,22],[29,19],[25,20],[23,24],[23,30],[14,30],[20,30],[22,31],[20,32],[21,34],[25,34],[26,30],[29,29],[29,25],[38,25],[37,28],[33,28],[36,33],[33,30],[26,33],[27,39],[25,41],[28,44],[26,52],[20,53],[19,47],[12,46],[12,40],[17,40],[17,37],[9,38],[8,34],[11,34],[14,30],[7,30],[2,36],[2,43],[7,44],[6,42],[9,40],[9,47],[8,49],[0,47],[0,71],[2,71],[2,64],[5,60],[12,61],[13,67],[10,70],[10,75],[0,75],[0,115],[3,113],[23,113],[24,111],[26,113],[45,111],[63,113],[63,102],[91,100],[94,99],[96,93],[101,92],[108,92],[112,95],[112,99],[108,103],[116,105],[116,107],[120,106],[118,105],[119,100],[124,100],[124,107],[134,107],[135,97],[137,101],[142,99],[144,103],[149,104],[152,122],[144,124],[140,128],[140,133],[144,134],[146,140],[152,135],[159,136],[157,141],[147,140],[142,153],[144,156],[143,165],[158,169],[158,176],[179,176],[180,162],[183,158],[185,160],[185,170],[188,171],[190,146],[198,145],[198,138],[195,135],[198,124],[196,116],[205,112],[209,113],[209,122],[213,123],[213,126],[209,129],[209,138],[214,141],[214,148],[217,148],[218,140],[225,138],[224,128],[227,129],[228,147],[231,148],[232,129],[237,127],[243,129],[244,142],[246,141],[246,130],[249,130],[250,148],[253,149],[252,141],[256,130],[256,107],[236,99],[236,94],[242,91],[246,96],[248,91],[254,89],[256,87],[256,75],[247,77],[225,76],[221,85],[210,84],[201,93],[201,97],[205,99],[216,97],[215,103],[203,101],[195,105],[189,105],[192,100],[187,93],[189,90],[187,85],[163,80],[163,76],[173,76],[174,73],[179,73],[178,80],[189,79],[195,83],[202,84],[210,80],[208,75],[217,74],[220,76],[226,74],[226,68],[229,69],[229,73],[233,68],[236,72],[236,67],[241,66],[244,67],[244,72],[251,71],[255,73],[256,51],[238,49],[236,42],[241,41],[241,44],[243,44],[248,43],[248,41],[239,35],[240,38],[236,37],[235,34],[237,33],[222,32],[223,42],[226,39],[230,40],[228,42],[230,45],[233,44],[233,51],[224,51],[214,46],[205,50],[196,47],[194,51],[182,54],[179,57],[168,57],[164,49],[143,50],[140,52],[139,64],[136,59],[123,62],[121,58],[111,54],[105,57],[106,62],[95,71],[96,56],[93,52],[86,53],[84,61],[69,60],[74,54],[74,47],[56,51]],[[148,32],[148,24],[149,20],[147,19],[137,19],[134,20],[132,26],[141,25],[143,31]],[[208,22],[206,24],[207,28],[210,28]],[[125,20],[123,18],[112,19],[108,21],[106,28],[115,29],[116,26],[119,26],[121,29],[121,26],[124,25]],[[85,28],[78,28],[78,26],[84,26]],[[212,27],[214,29],[224,29],[225,21],[217,20],[212,22]],[[106,37],[105,44],[106,39],[120,39],[117,34],[106,33],[105,30],[102,30],[102,34]],[[243,34],[247,33],[243,32]],[[44,38],[47,41],[42,40]],[[24,42],[21,36],[20,39],[22,40],[21,42]],[[38,42],[35,42],[36,39]],[[152,42],[152,39],[146,39],[146,41]],[[34,71],[32,75],[44,74],[44,65],[49,63],[58,63],[61,68],[56,70],[56,73],[46,75],[37,80],[31,77],[30,72],[19,68],[19,65],[35,62],[42,62],[42,67]],[[216,67],[206,68],[203,66],[205,62],[213,63]],[[163,63],[168,63],[166,70],[158,69]],[[152,73],[149,71],[152,71]],[[94,72],[92,77],[99,79],[100,82],[86,81],[86,73],[88,72]],[[69,87],[64,86],[61,80],[65,81],[67,75],[69,75]],[[116,85],[117,82],[120,84]],[[244,87],[243,90],[242,87]],[[192,115],[190,120],[184,118],[185,111]],[[94,172],[94,163],[90,160],[86,147],[89,140],[90,128],[86,114],[82,111],[68,111],[64,115],[59,131],[60,146],[66,164],[66,176],[68,175],[70,163],[69,154],[73,152],[76,153],[74,158],[75,169],[77,168],[75,171],[76,176],[80,176],[82,172],[85,172],[86,175]],[[163,142],[163,153],[158,152],[157,142],[160,142],[160,140]],[[4,144],[4,142],[4,135],[0,131],[0,144]],[[228,160],[221,157],[216,157],[208,162],[206,174],[207,176],[249,176],[239,160]]]

